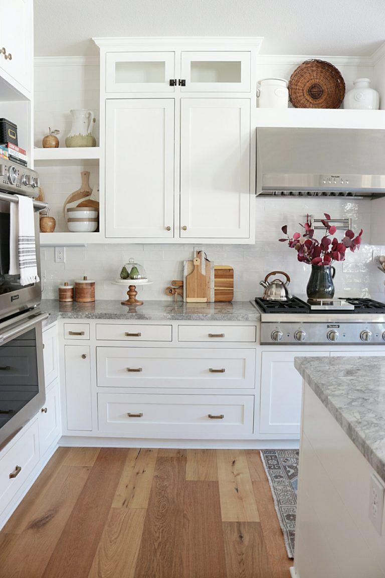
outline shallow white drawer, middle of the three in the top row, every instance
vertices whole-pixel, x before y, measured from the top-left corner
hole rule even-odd
[[[171,325],[96,324],[96,339],[118,341],[171,341]]]

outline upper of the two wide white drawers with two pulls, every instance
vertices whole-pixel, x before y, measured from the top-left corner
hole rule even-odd
[[[97,347],[98,387],[255,387],[253,349]]]

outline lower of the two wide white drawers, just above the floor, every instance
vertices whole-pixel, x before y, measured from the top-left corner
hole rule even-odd
[[[99,393],[99,432],[251,434],[253,407],[253,395]]]

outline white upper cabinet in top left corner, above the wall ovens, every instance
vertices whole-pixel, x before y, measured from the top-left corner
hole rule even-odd
[[[32,90],[32,2],[0,3],[0,74],[13,86]]]

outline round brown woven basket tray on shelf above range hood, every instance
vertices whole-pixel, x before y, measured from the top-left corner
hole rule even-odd
[[[305,60],[290,76],[289,98],[295,108],[339,108],[345,81],[335,66],[324,60]]]

